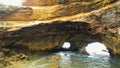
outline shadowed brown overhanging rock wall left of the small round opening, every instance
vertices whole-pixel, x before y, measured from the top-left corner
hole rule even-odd
[[[17,31],[1,33],[0,45],[20,45],[41,51],[60,48],[69,37],[72,37],[72,34],[85,33],[86,30],[90,29],[88,27],[87,23],[70,21],[40,24]]]

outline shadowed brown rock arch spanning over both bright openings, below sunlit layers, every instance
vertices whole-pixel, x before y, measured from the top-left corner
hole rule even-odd
[[[70,50],[79,51],[90,42],[100,41],[106,44],[112,56],[118,57],[120,49],[116,34],[114,36],[113,33],[106,33],[103,29],[101,24],[54,21],[0,33],[0,46],[19,45],[27,46],[31,50],[52,51],[59,50],[68,41],[71,43]]]

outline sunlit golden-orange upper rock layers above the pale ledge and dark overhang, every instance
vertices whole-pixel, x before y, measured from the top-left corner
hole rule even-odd
[[[60,2],[60,4],[59,4]],[[65,2],[65,3],[64,3]],[[4,14],[4,17],[0,17],[1,20],[12,21],[30,21],[30,20],[51,20],[59,17],[69,17],[79,13],[91,12],[101,9],[107,5],[114,4],[117,1],[114,0],[27,0],[25,3],[30,5],[29,8],[18,8],[17,10],[3,11],[0,10],[0,15]],[[55,4],[54,4],[55,3]],[[52,6],[48,6],[51,5]],[[35,5],[35,6],[34,6]],[[44,5],[44,6],[42,6]],[[27,6],[24,5],[23,6]],[[112,5],[114,6],[114,5]],[[28,12],[28,14],[26,14]],[[32,13],[31,13],[32,12]],[[10,13],[8,15],[7,13]],[[29,17],[25,17],[28,16]],[[83,16],[84,17],[84,16]],[[78,18],[74,17],[74,18]],[[61,19],[61,18],[60,18]],[[68,18],[71,20],[70,18]]]

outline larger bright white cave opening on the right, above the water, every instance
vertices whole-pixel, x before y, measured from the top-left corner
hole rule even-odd
[[[89,43],[85,47],[85,50],[90,56],[110,56],[110,53],[106,46],[100,42]]]

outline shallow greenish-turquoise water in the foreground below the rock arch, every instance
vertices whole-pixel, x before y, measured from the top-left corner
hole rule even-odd
[[[61,60],[50,61],[48,57],[60,55]],[[74,52],[57,52],[48,56],[30,61],[22,68],[120,68],[120,60],[106,56],[91,57]],[[13,68],[21,68],[13,67]]]

